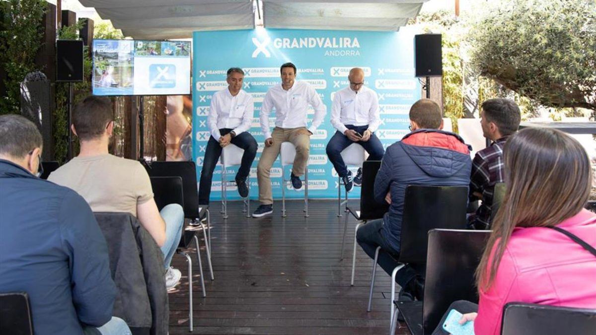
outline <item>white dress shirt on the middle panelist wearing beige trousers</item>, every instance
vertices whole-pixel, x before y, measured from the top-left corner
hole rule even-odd
[[[308,105],[315,108],[315,116],[312,119],[312,125],[308,128],[313,134],[316,128],[321,125],[327,107],[321,101],[321,97],[306,82],[296,80],[294,85],[287,91],[280,85],[269,88],[259,114],[261,129],[265,138],[271,137],[269,129],[269,114],[275,107],[275,126],[280,128],[298,128],[306,127],[308,116]]]

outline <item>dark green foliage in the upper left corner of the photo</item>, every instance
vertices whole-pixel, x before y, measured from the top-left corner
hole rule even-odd
[[[7,94],[0,98],[0,114],[19,113],[20,85],[29,72],[41,70],[35,55],[41,47],[43,0],[0,1],[0,63],[7,73]]]

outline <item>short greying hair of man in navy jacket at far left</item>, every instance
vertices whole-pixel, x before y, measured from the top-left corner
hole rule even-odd
[[[21,158],[42,145],[35,123],[17,114],[0,115],[0,154]]]

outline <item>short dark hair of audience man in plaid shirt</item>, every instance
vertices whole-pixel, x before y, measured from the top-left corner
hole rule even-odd
[[[503,136],[511,135],[520,126],[522,116],[520,107],[510,99],[495,98],[482,103],[483,117],[493,122]]]

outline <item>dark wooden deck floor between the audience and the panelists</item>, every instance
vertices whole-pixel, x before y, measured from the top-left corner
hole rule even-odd
[[[355,201],[354,204],[357,202]],[[386,334],[389,330],[390,276],[380,268],[367,312],[371,260],[358,247],[356,279],[350,286],[352,239],[350,217],[344,260],[339,261],[344,218],[337,203],[312,200],[309,218],[302,202],[281,203],[274,213],[247,219],[241,204],[228,203],[227,220],[212,204],[215,281],[206,280],[201,296],[198,263],[193,259],[194,331],[197,334]],[[253,202],[252,209],[257,203]],[[206,278],[209,272],[203,255]],[[188,277],[184,256],[172,265],[182,281],[169,295],[170,334],[188,334]],[[398,334],[408,334],[401,324]]]

